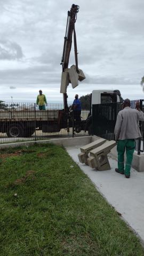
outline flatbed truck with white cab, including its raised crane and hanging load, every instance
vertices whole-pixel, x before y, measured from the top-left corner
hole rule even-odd
[[[63,53],[61,59],[62,74],[60,93],[63,94],[62,109],[46,109],[36,110],[36,105],[33,108],[1,108],[0,106],[0,132],[6,133],[8,137],[30,137],[35,130],[42,130],[45,133],[59,132],[61,129],[66,129],[69,132],[70,127],[74,127],[75,132],[81,130],[91,133],[91,108],[92,104],[103,103],[104,101],[116,102],[119,101],[115,91],[94,90],[91,93],[91,105],[89,115],[76,124],[73,117],[73,110],[68,106],[67,102],[67,87],[71,83],[73,89],[78,86],[78,82],[85,79],[82,69],[78,68],[77,58],[77,43],[75,22],[79,6],[73,4],[68,11],[66,34],[64,37]],[[72,37],[74,34],[74,52],[75,65],[69,68],[69,56],[71,51]]]

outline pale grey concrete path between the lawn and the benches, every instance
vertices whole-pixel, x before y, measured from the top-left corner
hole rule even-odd
[[[124,175],[115,172],[117,161],[111,157],[109,157],[111,170],[91,169],[90,166],[79,163],[80,147],[66,147],[66,150],[144,243],[144,173],[132,169],[131,178],[126,179]]]

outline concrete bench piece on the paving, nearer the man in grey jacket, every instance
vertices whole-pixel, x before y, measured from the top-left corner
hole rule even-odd
[[[107,141],[103,145],[90,151],[90,156],[87,158],[87,164],[99,171],[110,170],[107,154],[115,147],[114,140]]]

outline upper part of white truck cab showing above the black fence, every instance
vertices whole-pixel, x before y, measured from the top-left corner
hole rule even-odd
[[[93,90],[91,105],[120,102],[119,95],[113,90]]]

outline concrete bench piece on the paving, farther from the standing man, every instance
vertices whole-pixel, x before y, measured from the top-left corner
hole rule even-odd
[[[96,141],[93,141],[93,142],[81,147],[80,148],[81,153],[78,154],[79,162],[87,164],[87,158],[89,157],[90,151],[93,150],[94,148],[101,146],[105,142],[106,142],[105,139],[100,138]]]

